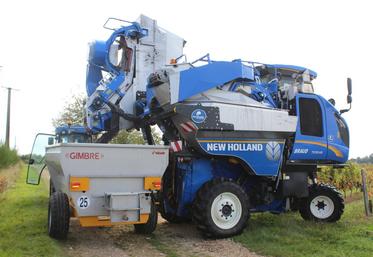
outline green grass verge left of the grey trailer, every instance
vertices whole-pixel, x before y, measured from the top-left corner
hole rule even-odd
[[[0,256],[64,256],[47,233],[48,188],[27,185],[26,168],[0,200]]]

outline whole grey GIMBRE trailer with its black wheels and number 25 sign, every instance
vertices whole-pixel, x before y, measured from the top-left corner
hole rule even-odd
[[[168,165],[168,147],[92,143],[45,147],[51,139],[48,134],[37,135],[27,176],[27,183],[39,184],[42,170],[49,171],[51,237],[66,238],[70,218],[77,218],[82,227],[133,224],[138,233],[154,231],[156,194]]]

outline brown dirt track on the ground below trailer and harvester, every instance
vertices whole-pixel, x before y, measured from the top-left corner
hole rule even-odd
[[[74,257],[259,257],[230,239],[205,240],[191,224],[169,224],[163,220],[151,236],[135,234],[132,226],[81,228],[73,220],[64,247]]]

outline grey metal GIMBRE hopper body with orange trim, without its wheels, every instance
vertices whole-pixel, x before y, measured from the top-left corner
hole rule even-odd
[[[141,224],[167,168],[168,147],[62,143],[45,148],[44,162],[53,190],[68,196],[82,226]]]

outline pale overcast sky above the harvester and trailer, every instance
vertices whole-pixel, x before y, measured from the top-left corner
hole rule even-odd
[[[317,94],[346,104],[350,157],[373,153],[371,1],[0,1],[0,86],[14,87],[10,145],[29,153],[38,132],[53,133],[52,119],[72,95],[85,92],[88,43],[107,39],[108,17],[140,14],[183,37],[188,60],[299,65],[315,70]],[[5,139],[7,92],[0,88],[0,140]]]

